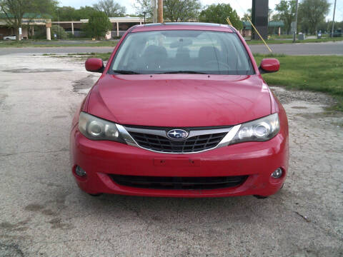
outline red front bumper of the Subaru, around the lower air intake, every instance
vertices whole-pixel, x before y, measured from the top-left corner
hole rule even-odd
[[[77,126],[71,131],[71,169],[76,183],[87,193],[131,196],[224,197],[276,193],[288,170],[288,135],[280,131],[265,142],[237,143],[202,153],[154,153],[114,141],[91,141]],[[76,166],[86,171],[77,176]],[[282,178],[270,175],[281,167]],[[122,186],[110,174],[163,177],[248,176],[239,186],[216,189],[152,189]]]

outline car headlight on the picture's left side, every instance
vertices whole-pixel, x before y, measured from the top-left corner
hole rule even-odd
[[[79,131],[92,140],[111,140],[125,143],[121,138],[116,124],[99,119],[96,116],[80,113]]]

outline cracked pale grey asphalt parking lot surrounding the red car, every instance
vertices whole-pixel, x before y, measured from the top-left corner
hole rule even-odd
[[[94,198],[69,171],[71,117],[97,79],[70,59],[0,56],[0,256],[343,256],[343,114],[274,87],[289,177],[264,200]]]

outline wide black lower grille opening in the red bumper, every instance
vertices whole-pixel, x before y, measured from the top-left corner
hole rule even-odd
[[[216,189],[239,186],[248,176],[222,177],[159,177],[109,174],[121,186],[151,189]]]

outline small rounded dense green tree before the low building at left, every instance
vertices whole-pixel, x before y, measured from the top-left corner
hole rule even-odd
[[[109,17],[102,11],[96,11],[89,17],[88,24],[85,24],[86,34],[101,39],[112,29]]]

